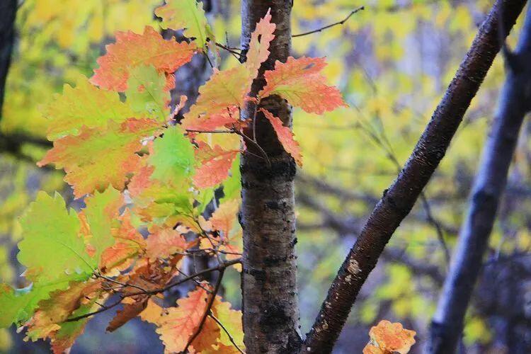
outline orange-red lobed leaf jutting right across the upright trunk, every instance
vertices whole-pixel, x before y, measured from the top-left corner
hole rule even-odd
[[[308,113],[322,114],[346,106],[338,89],[326,85],[319,74],[324,67],[324,58],[288,57],[285,63],[277,61],[275,70],[264,73],[267,85],[258,96],[279,95]]]

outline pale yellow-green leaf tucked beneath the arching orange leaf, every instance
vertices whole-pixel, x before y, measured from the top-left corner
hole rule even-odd
[[[169,115],[169,90],[165,88],[166,76],[151,65],[130,69],[127,81],[127,103],[135,113],[166,122]],[[147,113],[147,114],[146,114]]]

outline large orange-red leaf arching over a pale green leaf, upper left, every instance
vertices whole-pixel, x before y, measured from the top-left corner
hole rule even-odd
[[[173,73],[192,59],[194,43],[164,40],[154,28],[146,26],[144,33],[117,32],[116,42],[106,45],[107,54],[98,59],[91,82],[104,89],[125,91],[130,67],[153,65],[159,72]],[[173,76],[168,76],[173,87]]]

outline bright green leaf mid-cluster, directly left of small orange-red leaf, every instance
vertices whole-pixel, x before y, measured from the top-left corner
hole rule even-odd
[[[164,131],[164,137],[155,139],[149,163],[155,170],[152,178],[181,183],[193,173],[194,152],[190,141],[178,125]]]

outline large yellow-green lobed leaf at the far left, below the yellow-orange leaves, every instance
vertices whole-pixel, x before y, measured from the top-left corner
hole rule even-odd
[[[69,212],[63,198],[39,192],[21,217],[23,239],[18,261],[28,268],[26,278],[35,283],[64,279],[67,274],[89,276],[96,262],[86,252],[80,222]]]

